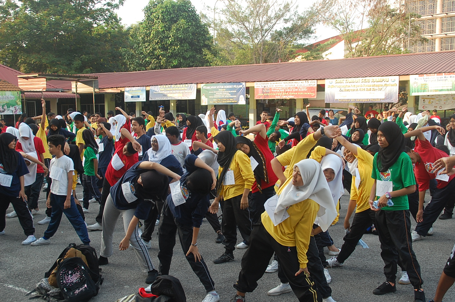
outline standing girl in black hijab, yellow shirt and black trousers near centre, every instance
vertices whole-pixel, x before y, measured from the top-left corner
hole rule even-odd
[[[236,149],[232,133],[222,131],[215,139],[218,144],[217,197],[210,206],[212,213],[218,213],[219,201],[224,199],[222,233],[225,252],[213,260],[219,264],[234,261],[233,251],[237,241],[237,226],[244,240],[248,241],[253,228],[253,213],[248,208],[248,193],[254,183],[254,174],[248,156]]]

